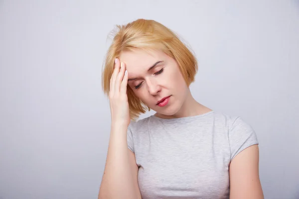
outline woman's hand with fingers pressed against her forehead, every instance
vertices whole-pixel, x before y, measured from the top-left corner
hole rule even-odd
[[[116,58],[109,92],[112,125],[129,126],[130,124],[127,85],[128,71],[126,71],[126,66]]]

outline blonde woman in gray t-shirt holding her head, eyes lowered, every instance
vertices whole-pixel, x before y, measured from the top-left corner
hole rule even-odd
[[[153,20],[118,28],[102,76],[112,122],[99,199],[263,199],[256,134],[194,100],[190,50]]]

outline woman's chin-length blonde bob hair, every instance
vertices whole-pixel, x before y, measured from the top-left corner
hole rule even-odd
[[[122,51],[131,50],[161,50],[172,57],[189,86],[194,82],[198,65],[194,54],[170,29],[159,22],[147,19],[137,19],[126,25],[117,25],[111,46],[109,47],[102,71],[102,87],[108,96],[110,91],[110,78],[114,70],[115,58]],[[138,119],[141,113],[145,113],[149,107],[134,95],[128,86],[127,95],[129,101],[130,117]]]

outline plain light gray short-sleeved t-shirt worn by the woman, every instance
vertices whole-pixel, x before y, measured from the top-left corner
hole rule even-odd
[[[258,144],[241,117],[217,111],[131,121],[127,138],[143,199],[228,199],[230,161]]]

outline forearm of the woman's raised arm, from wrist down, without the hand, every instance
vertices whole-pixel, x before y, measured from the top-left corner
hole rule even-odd
[[[99,199],[135,199],[130,168],[127,126],[112,125]]]

